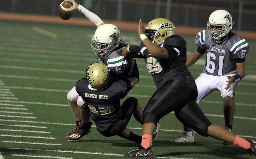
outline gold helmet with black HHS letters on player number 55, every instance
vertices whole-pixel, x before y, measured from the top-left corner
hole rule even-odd
[[[159,44],[167,37],[174,35],[173,23],[165,18],[156,18],[151,20],[145,28],[147,37],[155,44]]]

